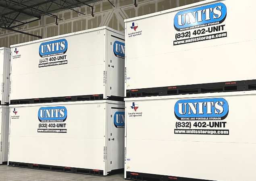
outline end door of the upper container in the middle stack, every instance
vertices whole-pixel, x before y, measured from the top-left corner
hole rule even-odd
[[[125,40],[111,36],[111,96],[124,95]]]

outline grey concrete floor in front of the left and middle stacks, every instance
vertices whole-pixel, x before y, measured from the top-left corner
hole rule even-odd
[[[0,181],[124,181],[124,175],[107,177],[0,165]]]

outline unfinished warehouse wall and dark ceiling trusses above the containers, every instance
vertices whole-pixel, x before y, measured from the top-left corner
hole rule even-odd
[[[10,47],[41,37],[54,37],[100,26],[108,26],[124,33],[125,19],[199,1],[137,0],[135,6],[134,0],[2,0],[0,47]],[[90,6],[93,7],[94,17]]]

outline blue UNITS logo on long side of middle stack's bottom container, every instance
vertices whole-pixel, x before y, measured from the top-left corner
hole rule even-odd
[[[67,108],[42,107],[38,110],[38,120],[40,122],[64,122],[67,119]]]

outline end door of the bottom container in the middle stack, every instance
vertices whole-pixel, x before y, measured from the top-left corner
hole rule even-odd
[[[111,108],[111,170],[124,168],[125,109]]]

